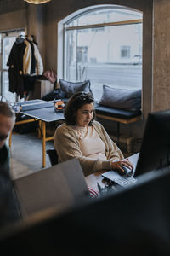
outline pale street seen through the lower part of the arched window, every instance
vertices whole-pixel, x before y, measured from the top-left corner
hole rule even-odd
[[[114,88],[137,90],[142,88],[142,65],[79,65],[78,81],[89,79],[95,100],[102,96],[103,84]],[[76,67],[71,66],[71,81]]]

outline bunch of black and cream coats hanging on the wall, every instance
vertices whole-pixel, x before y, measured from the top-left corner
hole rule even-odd
[[[16,38],[7,66],[10,92],[16,92],[22,98],[25,91],[34,89],[34,82],[43,73],[43,63],[32,36]]]

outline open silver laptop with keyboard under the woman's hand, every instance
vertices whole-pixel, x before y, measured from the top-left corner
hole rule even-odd
[[[133,154],[128,157],[128,160],[130,160],[133,164],[133,173],[136,171],[136,166],[139,159],[139,153]],[[131,185],[132,183],[136,183],[137,179],[133,176],[131,177],[124,177],[117,173],[116,171],[109,171],[102,174],[102,177],[105,177],[108,180],[111,180],[114,183],[119,184],[122,187],[127,187]]]

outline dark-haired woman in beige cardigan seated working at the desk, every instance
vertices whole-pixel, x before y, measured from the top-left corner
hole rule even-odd
[[[85,92],[71,96],[65,107],[65,123],[54,135],[59,162],[77,158],[85,176],[112,169],[123,173],[123,166],[132,169],[131,162],[124,159],[105,128],[94,119],[94,96]]]

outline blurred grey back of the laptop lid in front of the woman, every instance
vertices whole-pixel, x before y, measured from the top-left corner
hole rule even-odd
[[[14,180],[22,217],[55,207],[59,212],[89,195],[77,159]]]

